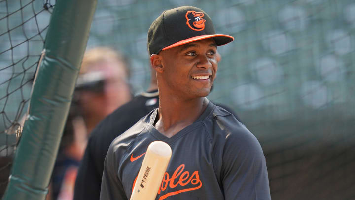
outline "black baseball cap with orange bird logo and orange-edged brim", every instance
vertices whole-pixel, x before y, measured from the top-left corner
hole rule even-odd
[[[232,36],[216,34],[211,18],[200,8],[182,6],[166,10],[149,27],[149,55],[207,38],[213,38],[217,46],[234,40]]]

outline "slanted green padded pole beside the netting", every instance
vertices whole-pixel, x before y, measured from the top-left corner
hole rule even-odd
[[[44,200],[97,0],[57,0],[3,200]]]

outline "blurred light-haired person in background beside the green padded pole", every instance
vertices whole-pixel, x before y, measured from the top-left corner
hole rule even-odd
[[[52,200],[72,200],[79,162],[93,128],[131,100],[125,58],[106,47],[85,52],[52,174]]]

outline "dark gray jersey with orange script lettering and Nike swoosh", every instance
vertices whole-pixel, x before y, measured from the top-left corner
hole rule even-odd
[[[209,102],[193,124],[168,138],[154,127],[157,109],[111,143],[100,200],[128,200],[148,145],[161,140],[172,158],[156,200],[270,200],[257,139],[228,111]]]

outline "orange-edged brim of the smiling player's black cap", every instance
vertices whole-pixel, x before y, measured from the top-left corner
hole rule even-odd
[[[187,44],[187,43],[190,43],[190,42],[193,42],[193,41],[198,41],[198,40],[204,40],[204,39],[207,39],[207,38],[213,38],[215,40],[217,46],[221,46],[221,45],[227,44],[227,43],[229,43],[229,42],[234,40],[233,36],[228,36],[228,35],[224,35],[224,34],[201,35],[201,36],[195,36],[195,37],[192,37],[192,38],[181,40],[181,41],[179,41],[179,42],[177,42],[175,44],[172,44],[170,46],[167,46],[167,47],[163,48],[162,50],[167,50],[167,49],[170,49],[170,48],[181,46],[183,44]]]

